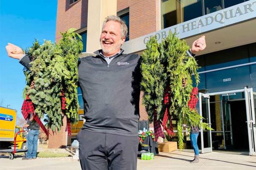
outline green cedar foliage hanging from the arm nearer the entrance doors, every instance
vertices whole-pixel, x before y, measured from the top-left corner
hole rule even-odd
[[[177,136],[180,149],[183,148],[182,124],[209,129],[208,124],[201,123],[202,117],[188,107],[193,88],[192,75],[194,74],[196,85],[200,80],[197,73],[198,64],[194,57],[186,54],[187,50],[189,46],[186,42],[179,40],[170,32],[161,43],[157,42],[156,37],[151,37],[141,59],[141,90],[144,92],[143,105],[148,113],[149,122],[153,121],[154,110],[157,111],[157,119],[163,120],[166,108],[163,100],[164,91],[169,85],[169,112],[178,118]],[[183,79],[187,82],[184,88]]]

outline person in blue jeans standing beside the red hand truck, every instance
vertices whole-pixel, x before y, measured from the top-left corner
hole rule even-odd
[[[26,157],[22,158],[22,160],[36,159],[40,126],[33,119],[33,115],[31,115],[23,128],[28,129],[28,134],[26,136],[27,154]]]

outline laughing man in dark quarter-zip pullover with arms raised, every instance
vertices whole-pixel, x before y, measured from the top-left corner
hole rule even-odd
[[[103,23],[96,56],[81,58],[79,86],[86,122],[80,130],[79,159],[83,170],[136,170],[140,101],[140,56],[124,54],[127,26],[119,17]],[[189,53],[206,47],[196,40]],[[29,57],[13,44],[6,46],[12,58],[29,67]]]

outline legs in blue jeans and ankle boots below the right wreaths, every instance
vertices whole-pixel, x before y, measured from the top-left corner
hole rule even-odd
[[[199,135],[199,128],[192,126],[190,128],[190,141],[195,152],[195,158],[192,161],[190,161],[190,163],[199,162],[199,150],[198,150],[198,144],[197,144],[198,135]]]

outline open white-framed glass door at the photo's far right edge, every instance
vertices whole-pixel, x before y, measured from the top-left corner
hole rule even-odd
[[[249,154],[256,154],[256,127],[255,127],[255,99],[256,94],[253,93],[252,88],[244,87],[245,102],[246,102],[246,116],[247,116],[247,129],[249,139]]]

